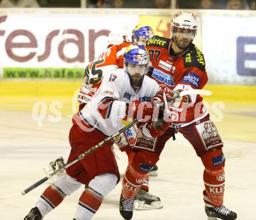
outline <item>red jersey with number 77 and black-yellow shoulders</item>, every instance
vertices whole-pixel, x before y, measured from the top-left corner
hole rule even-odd
[[[150,55],[150,75],[162,88],[202,89],[208,81],[205,71],[205,60],[202,52],[191,43],[186,51],[172,56],[172,40],[169,38],[154,37],[147,41],[147,51]],[[205,117],[208,112],[201,102],[202,97],[191,95],[192,103],[182,112],[176,112],[173,124],[186,126]]]

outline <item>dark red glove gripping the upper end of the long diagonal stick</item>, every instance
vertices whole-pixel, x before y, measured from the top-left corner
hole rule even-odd
[[[147,129],[153,138],[157,138],[165,133],[169,126],[170,122],[163,121],[161,118],[158,121],[151,121],[149,124],[147,124]]]

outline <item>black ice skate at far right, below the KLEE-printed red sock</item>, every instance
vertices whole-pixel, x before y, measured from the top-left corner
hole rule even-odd
[[[218,207],[205,206],[205,213],[208,216],[208,220],[217,220],[217,218],[222,220],[234,220],[237,218],[237,214],[230,211],[224,205]]]

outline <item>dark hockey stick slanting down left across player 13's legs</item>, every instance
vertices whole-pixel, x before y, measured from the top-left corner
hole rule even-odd
[[[86,152],[80,154],[76,159],[72,160],[70,163],[63,165],[63,167],[56,169],[56,171],[52,172],[51,174],[49,174],[48,176],[45,176],[45,178],[40,179],[40,181],[34,183],[33,185],[31,185],[30,187],[28,187],[27,189],[25,189],[24,191],[22,191],[22,194],[25,195],[28,192],[30,192],[31,190],[35,189],[35,187],[40,186],[42,183],[44,183],[45,181],[47,181],[49,178],[52,178],[52,176],[54,176],[57,172],[62,171],[63,169],[70,167],[71,165],[73,165],[74,163],[76,163],[77,161],[83,159],[84,157],[86,157],[88,154],[90,154],[91,152],[94,152],[94,150],[97,150],[99,147],[102,147],[106,142],[108,142],[109,140],[112,140],[113,138],[115,138],[116,136],[122,134],[126,129],[133,127],[133,125],[136,125],[138,123],[139,120],[135,120],[133,122],[131,122],[129,125],[126,125],[125,127],[123,127],[122,129],[120,129],[118,132],[116,132],[115,134],[109,136],[108,138],[102,140],[101,142],[99,142],[97,145],[91,147],[90,149],[88,149]]]

